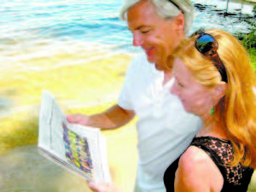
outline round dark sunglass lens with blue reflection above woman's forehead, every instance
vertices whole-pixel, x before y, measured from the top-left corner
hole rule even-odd
[[[205,55],[208,51],[212,50],[214,46],[214,38],[210,35],[203,35],[201,38],[197,39],[196,48],[201,52],[201,54]]]

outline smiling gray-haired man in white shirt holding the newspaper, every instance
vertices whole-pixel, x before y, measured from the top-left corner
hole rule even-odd
[[[118,103],[92,116],[67,116],[71,123],[118,128],[135,115],[137,121],[137,179],[134,191],[164,192],[166,168],[189,146],[201,121],[186,113],[169,90],[174,79],[166,58],[186,37],[194,8],[189,0],[125,0],[121,18],[133,34],[133,45],[144,53],[131,62]],[[185,102],[185,101],[184,101]],[[102,191],[102,185],[91,184]]]

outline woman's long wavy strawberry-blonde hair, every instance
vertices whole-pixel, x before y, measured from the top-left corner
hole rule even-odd
[[[256,78],[249,55],[230,33],[218,29],[206,33],[218,42],[217,52],[228,76],[225,96],[215,105],[212,121],[221,125],[233,145],[234,159],[230,166],[240,162],[256,168]],[[169,67],[172,68],[172,61],[178,57],[199,84],[214,87],[221,82],[220,73],[211,57],[195,49],[195,38],[183,40],[171,55]]]

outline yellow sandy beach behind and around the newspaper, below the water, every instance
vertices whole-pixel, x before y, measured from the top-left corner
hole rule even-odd
[[[58,58],[56,55],[55,61]],[[66,59],[73,61],[75,58],[76,55],[71,55]],[[81,59],[83,56],[79,55],[79,61],[82,62]],[[40,60],[40,65],[52,60],[44,58]],[[129,55],[112,55],[84,65],[79,63],[73,66],[49,67],[45,71],[3,71],[0,92],[9,101],[9,107],[2,108],[2,113],[7,115],[0,121],[0,172],[3,172],[0,180],[4,181],[0,182],[2,192],[17,189],[37,192],[90,191],[84,179],[63,172],[62,168],[38,156],[35,147],[30,148],[38,142],[41,93],[42,90],[51,91],[66,113],[100,113],[115,102],[130,61]],[[38,60],[30,62],[30,65],[38,65]],[[135,122],[118,130],[102,133],[107,137],[108,164],[113,183],[124,192],[131,192],[137,168]],[[24,147],[18,148],[22,146]],[[13,156],[15,154],[16,159]],[[50,177],[54,179],[51,181]],[[64,183],[68,185],[67,188]],[[45,186],[49,186],[49,189],[45,189]],[[255,176],[248,191],[256,191]]]

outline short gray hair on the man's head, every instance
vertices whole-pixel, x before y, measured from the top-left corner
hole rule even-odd
[[[120,10],[121,20],[127,20],[127,11],[142,0],[124,0]],[[189,33],[190,26],[194,21],[195,9],[190,0],[150,0],[156,13],[164,20],[176,17],[182,11],[185,20],[184,32]],[[178,8],[177,8],[178,7]]]

